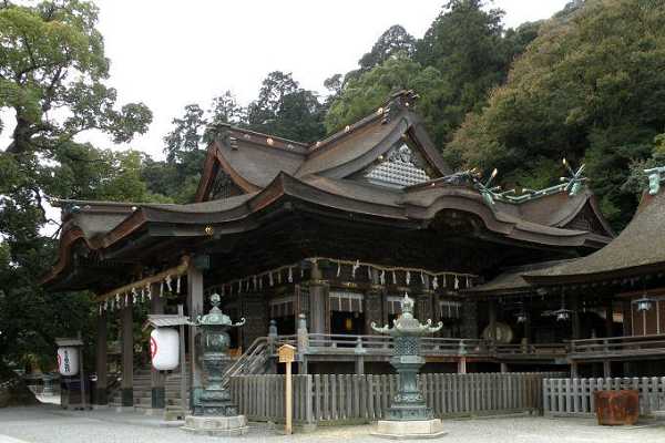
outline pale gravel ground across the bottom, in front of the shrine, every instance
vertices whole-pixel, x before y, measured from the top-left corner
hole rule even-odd
[[[446,443],[663,443],[665,424],[597,426],[586,419],[543,419],[513,416],[478,420],[447,420]],[[335,442],[380,443],[369,435],[371,426],[319,427],[310,433],[279,435],[264,424],[252,424],[243,437],[192,435],[160,425],[160,420],[112,411],[63,411],[53,405],[0,410],[0,443],[206,443],[238,442]],[[431,442],[431,440],[427,440]]]

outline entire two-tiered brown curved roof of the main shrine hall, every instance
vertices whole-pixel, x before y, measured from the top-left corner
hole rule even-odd
[[[122,260],[117,249],[135,255],[140,236],[154,235],[166,241],[168,233],[176,230],[178,238],[204,237],[209,228],[215,236],[250,231],[267,223],[258,214],[279,210],[288,202],[409,229],[427,228],[443,210],[460,212],[481,220],[494,238],[523,246],[589,250],[610,241],[608,229],[591,231],[570,225],[587,210],[597,224],[606,226],[589,192],[576,196],[557,192],[519,204],[497,200],[488,205],[472,185],[447,183],[450,169],[410,110],[409,100],[409,93],[398,94],[387,109],[311,145],[225,126],[208,148],[197,203],[61,200],[64,227],[59,260],[45,280],[58,279],[71,267],[76,245],[98,253],[101,260]],[[378,164],[405,136],[418,150],[432,181],[396,188],[357,179],[358,173]],[[222,171],[244,194],[206,202],[215,174]]]

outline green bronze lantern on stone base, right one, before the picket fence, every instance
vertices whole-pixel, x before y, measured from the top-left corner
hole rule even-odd
[[[418,373],[424,364],[420,352],[420,338],[437,332],[443,323],[432,327],[432,320],[420,323],[413,317],[413,300],[405,293],[401,302],[402,313],[393,321],[392,328],[385,326],[371,328],[381,333],[388,333],[393,339],[390,364],[400,377],[399,391],[392,399],[387,411],[387,420],[378,422],[375,435],[392,439],[399,437],[434,437],[446,434],[441,420],[433,418],[433,412],[427,406],[418,387]]]

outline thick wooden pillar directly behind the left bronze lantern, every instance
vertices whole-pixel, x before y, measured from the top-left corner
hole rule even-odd
[[[193,265],[187,268],[187,311],[190,318],[196,319],[203,316],[203,272]],[[190,328],[190,408],[198,399],[198,393],[203,389],[201,379],[202,368],[196,362],[196,343],[198,328]]]

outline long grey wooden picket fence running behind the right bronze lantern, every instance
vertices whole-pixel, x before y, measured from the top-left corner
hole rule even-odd
[[[436,416],[541,411],[542,384],[553,372],[421,374],[420,388]],[[239,375],[231,392],[254,421],[283,422],[284,375]],[[398,375],[294,375],[294,422],[368,423],[382,419],[399,389]]]

